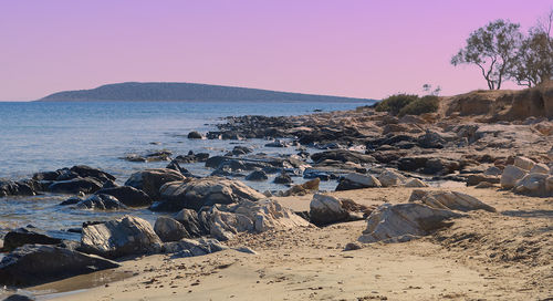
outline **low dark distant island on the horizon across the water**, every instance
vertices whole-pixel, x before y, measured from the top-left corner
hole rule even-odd
[[[278,92],[195,83],[117,83],[91,90],[63,91],[39,102],[198,101],[198,102],[357,102],[375,100]]]

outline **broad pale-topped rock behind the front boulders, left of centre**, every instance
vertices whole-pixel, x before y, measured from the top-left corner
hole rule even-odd
[[[264,196],[238,180],[220,177],[173,181],[160,188],[159,204],[153,210],[178,211],[184,208],[198,210],[215,204],[232,204],[239,200],[259,200]]]

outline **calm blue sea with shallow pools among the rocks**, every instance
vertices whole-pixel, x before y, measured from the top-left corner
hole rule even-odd
[[[195,153],[222,155],[234,145],[248,145],[255,153],[296,153],[295,147],[264,147],[267,141],[188,139],[191,131],[216,131],[226,116],[288,116],[353,110],[371,103],[216,103],[216,102],[0,102],[0,178],[29,178],[33,173],[73,165],[88,165],[113,174],[118,184],[146,168],[167,162],[133,163],[128,154],[168,149],[174,156]],[[309,152],[320,152],[309,149]],[[184,165],[192,174],[210,173],[204,164]],[[302,183],[304,179],[294,178]],[[260,191],[285,189],[268,181],[244,183]],[[333,189],[336,183],[323,183]],[[0,198],[0,237],[17,227],[35,227],[51,236],[79,240],[67,231],[83,221],[107,220],[123,215],[140,216],[150,222],[156,212],[147,209],[121,211],[79,210],[58,204],[67,195]]]

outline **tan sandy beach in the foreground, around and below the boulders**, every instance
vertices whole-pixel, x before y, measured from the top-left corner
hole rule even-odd
[[[425,188],[436,189],[436,188]],[[413,188],[332,193],[365,205],[405,203]],[[195,258],[149,256],[98,272],[32,288],[63,291],[106,286],[55,300],[541,300],[553,298],[553,198],[455,188],[494,206],[449,229],[405,243],[343,251],[364,221],[241,235],[233,250]],[[279,199],[306,210],[311,196]],[[126,279],[115,281],[127,277]],[[113,278],[113,279],[112,279]]]

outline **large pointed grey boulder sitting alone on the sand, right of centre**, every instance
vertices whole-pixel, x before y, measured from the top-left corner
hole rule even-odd
[[[435,209],[420,204],[384,204],[367,218],[367,228],[359,242],[396,242],[429,235],[448,227],[451,218],[462,215],[446,209]]]

